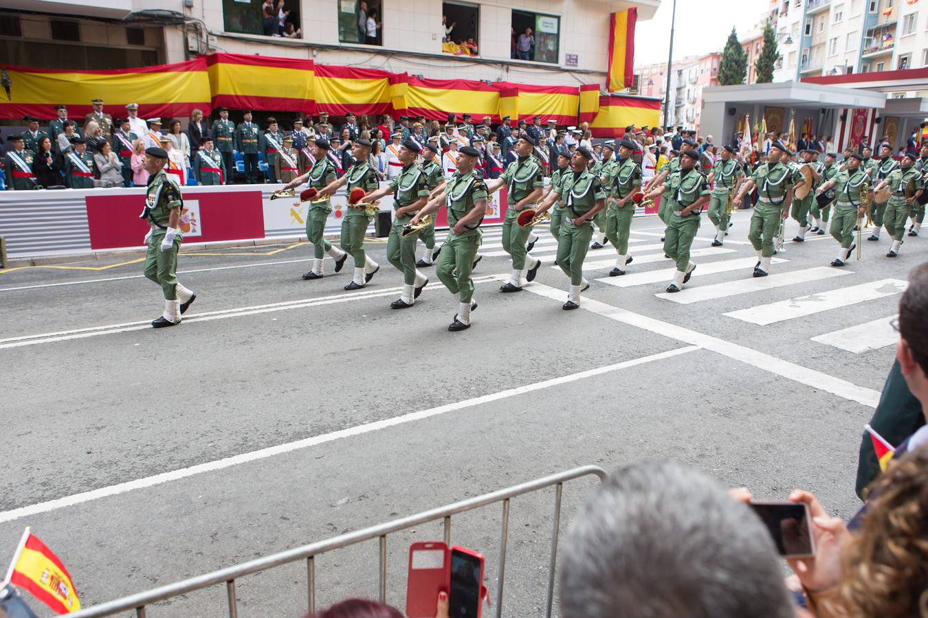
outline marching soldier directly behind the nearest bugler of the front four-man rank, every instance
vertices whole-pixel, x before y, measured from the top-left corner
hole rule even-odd
[[[512,258],[512,277],[500,286],[500,292],[521,292],[523,278],[525,281],[533,281],[541,264],[540,259],[525,251],[532,226],[521,227],[516,220],[522,210],[535,207],[545,184],[544,171],[537,159],[532,157],[535,140],[530,135],[522,135],[514,147],[516,160],[509,163],[499,178],[486,183],[486,190],[491,195],[502,186],[507,187],[508,208],[503,220],[502,244],[503,250]]]

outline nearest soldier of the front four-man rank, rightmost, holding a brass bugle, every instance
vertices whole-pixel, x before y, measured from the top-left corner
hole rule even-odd
[[[418,223],[445,204],[448,212],[448,236],[438,256],[436,274],[448,292],[458,296],[458,312],[448,325],[452,333],[470,328],[470,311],[477,309],[473,300],[470,271],[483,239],[480,223],[486,214],[489,192],[480,174],[474,172],[480,152],[472,146],[458,151],[458,170],[445,184],[445,191],[433,197],[410,224]]]

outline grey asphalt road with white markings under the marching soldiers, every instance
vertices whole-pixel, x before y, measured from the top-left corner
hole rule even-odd
[[[509,263],[489,228],[480,307],[458,334],[446,330],[456,301],[433,274],[413,309],[389,309],[402,280],[373,239],[381,269],[355,293],[342,290],[350,264],[331,274],[327,260],[323,280],[303,282],[305,245],[182,255],[198,299],[160,331],[148,322],[161,292],[139,263],[0,271],[0,562],[30,525],[88,606],[642,459],[681,460],[762,498],[806,487],[850,516],[862,427],[895,352],[888,321],[928,238],[907,237],[897,259],[885,238],[865,242],[838,270],[831,237],[809,235],[756,280],[749,217],[736,213],[718,248],[703,218],[699,267],[673,297],[669,271],[647,274],[672,268],[660,221],[636,219],[628,274],[607,276],[611,247],[591,253],[592,285],[572,312],[547,230],[535,283],[503,295]],[[561,530],[594,485],[564,487]],[[551,490],[512,501],[504,615],[543,615],[552,504]],[[453,542],[486,556],[494,598],[500,515],[452,526]],[[405,603],[408,543],[441,537],[432,524],[389,538],[389,600]],[[376,542],[320,556],[319,602],[375,596],[377,566]],[[304,588],[300,562],[243,578],[238,615],[300,616]],[[148,615],[225,615],[225,597],[215,586]]]

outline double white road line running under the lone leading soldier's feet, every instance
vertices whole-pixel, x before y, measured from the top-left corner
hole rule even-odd
[[[475,277],[474,284],[483,284],[491,281],[497,281],[501,275],[485,275]],[[423,292],[433,290],[445,290],[445,286],[438,281],[431,281]],[[224,320],[226,318],[238,318],[247,315],[256,315],[259,313],[270,313],[274,311],[283,311],[287,309],[304,309],[306,307],[316,307],[321,305],[331,305],[334,303],[349,302],[352,300],[365,300],[367,298],[377,298],[380,296],[393,296],[402,291],[402,287],[388,287],[382,289],[363,290],[361,292],[350,292],[333,296],[318,296],[316,298],[301,298],[299,300],[286,300],[279,303],[267,305],[254,305],[251,307],[239,307],[236,309],[220,309],[218,311],[207,311],[197,313],[184,318],[182,323],[212,322],[213,320]],[[446,291],[446,290],[445,290]],[[71,339],[83,339],[84,337],[93,337],[98,334],[116,334],[127,333],[130,331],[140,331],[151,328],[150,321],[140,322],[123,322],[121,324],[107,324],[103,326],[91,326],[89,328],[79,328],[70,331],[59,331],[58,333],[26,334],[18,337],[8,337],[0,339],[0,349],[11,347],[33,346],[36,344],[50,344],[58,341],[68,341]]]

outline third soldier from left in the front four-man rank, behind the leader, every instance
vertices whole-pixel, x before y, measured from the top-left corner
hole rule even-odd
[[[429,201],[429,186],[421,168],[416,165],[421,147],[412,138],[406,140],[400,148],[400,161],[403,170],[381,189],[364,196],[365,201],[373,202],[393,192],[395,216],[387,239],[387,259],[393,268],[403,273],[403,293],[390,304],[390,309],[406,309],[416,303],[422,288],[429,283],[428,277],[416,270],[416,243],[419,233],[403,236],[406,225]],[[434,243],[434,241],[432,241]]]

